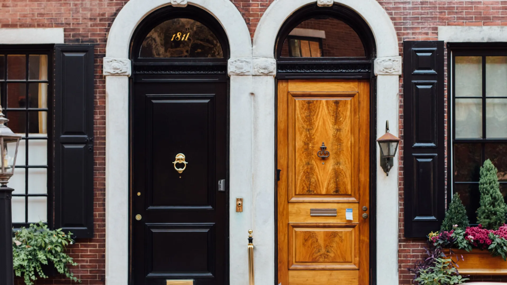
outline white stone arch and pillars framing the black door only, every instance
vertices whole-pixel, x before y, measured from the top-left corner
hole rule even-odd
[[[230,79],[230,197],[250,195],[251,193],[251,38],[245,20],[230,0],[130,0],[120,10],[108,34],[103,60],[103,74],[106,89],[106,263],[105,281],[107,285],[128,284],[129,277],[129,48],[137,25],[153,11],[164,6],[197,6],[213,15],[227,34],[231,58],[246,58],[249,65],[238,63],[242,73],[231,74]],[[237,70],[236,68],[235,70]],[[235,193],[234,191],[238,190]],[[232,202],[232,205],[235,201]],[[235,209],[235,207],[230,207]],[[231,210],[230,244],[231,256],[234,248],[245,249],[247,230],[251,227],[248,205],[244,215]],[[245,218],[247,217],[247,218]],[[234,233],[244,231],[243,239]],[[231,260],[231,267],[237,266]],[[241,262],[241,264],[243,264]],[[241,266],[240,266],[241,267]],[[245,266],[247,270],[247,265]],[[234,273],[238,278],[239,273]],[[231,273],[233,274],[233,273]],[[246,281],[248,276],[246,275]],[[231,284],[235,278],[231,276]]]

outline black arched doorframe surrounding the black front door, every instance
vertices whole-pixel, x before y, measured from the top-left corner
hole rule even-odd
[[[223,58],[139,58],[139,49],[144,37],[155,26],[174,18],[188,18],[201,22],[208,27],[218,38],[222,49]],[[144,18],[136,27],[129,50],[129,59],[131,59],[132,75],[129,77],[129,198],[128,198],[128,215],[129,215],[129,234],[128,234],[128,283],[132,284],[132,120],[133,120],[133,87],[135,82],[157,82],[157,83],[204,83],[204,82],[225,82],[227,84],[227,157],[226,157],[226,217],[225,217],[225,239],[226,239],[226,257],[225,262],[225,283],[229,284],[230,280],[230,244],[229,244],[229,181],[230,181],[230,78],[227,75],[227,62],[230,57],[230,47],[227,34],[223,30],[220,22],[216,20],[207,11],[196,6],[189,5],[185,8],[172,6],[162,7],[149,16]]]

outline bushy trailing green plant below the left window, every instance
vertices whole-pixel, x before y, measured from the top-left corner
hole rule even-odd
[[[65,234],[62,229],[49,230],[42,222],[16,231],[12,240],[16,276],[23,276],[25,284],[32,285],[38,279],[36,273],[41,278],[48,278],[41,265],[51,262],[60,274],[65,274],[72,281],[81,282],[67,268],[68,264],[78,265],[65,253],[65,247],[74,242],[71,235],[70,232]]]

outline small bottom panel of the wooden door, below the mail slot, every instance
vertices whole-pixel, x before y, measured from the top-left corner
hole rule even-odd
[[[356,224],[289,223],[289,269],[357,269]]]

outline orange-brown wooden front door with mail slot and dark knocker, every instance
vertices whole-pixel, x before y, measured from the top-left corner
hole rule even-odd
[[[281,285],[369,283],[369,98],[364,80],[278,81]]]

